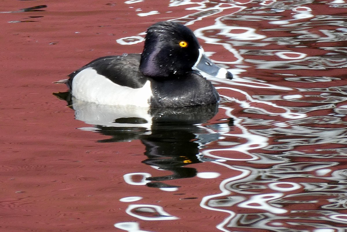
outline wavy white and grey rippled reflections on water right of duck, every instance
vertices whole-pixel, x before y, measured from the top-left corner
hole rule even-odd
[[[313,1],[262,1],[220,20],[226,25],[232,21],[240,25],[259,22],[260,28],[265,29],[255,33],[266,38],[248,43],[247,39],[234,37],[236,41],[226,42],[238,48],[244,59],[240,64],[248,65],[248,72],[252,68],[254,72],[266,70],[272,78],[287,80],[286,87],[291,87],[285,94],[283,91],[269,94],[262,86],[257,88],[263,94],[253,93],[255,86],[245,90],[247,93],[220,87],[228,90],[224,92],[226,102],[220,107],[228,117],[234,117],[238,130],[220,134],[225,139],[219,144],[225,144],[225,149],[206,149],[202,153],[225,158],[224,162],[213,163],[239,174],[223,180],[221,192],[204,197],[201,206],[229,213],[217,225],[222,231],[346,231],[347,91],[346,70],[342,68],[347,67],[343,47],[347,40],[347,17],[317,14],[324,11],[314,4],[303,6],[307,3]],[[346,3],[327,2],[324,7],[342,8]],[[306,76],[301,76],[299,69],[307,70]],[[283,73],[278,73],[279,70]],[[310,73],[310,70],[332,72]],[[248,80],[260,82],[256,78]],[[285,106],[306,116],[285,119],[270,114],[274,108],[269,110],[269,102],[275,103],[272,107]],[[254,103],[264,105],[250,107]],[[230,146],[231,141],[242,142]],[[238,149],[247,143],[248,149]],[[237,156],[237,150],[249,157],[242,156],[243,162],[231,159]]]

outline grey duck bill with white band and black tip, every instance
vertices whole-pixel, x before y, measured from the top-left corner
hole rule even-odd
[[[207,56],[204,55],[204,50],[199,49],[199,58],[197,59],[193,69],[208,74],[214,78],[232,79],[232,74],[225,68],[215,65]]]

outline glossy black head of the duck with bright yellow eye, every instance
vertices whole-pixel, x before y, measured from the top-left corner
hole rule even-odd
[[[147,29],[140,70],[152,77],[183,75],[192,71],[199,48],[188,27],[174,22],[155,23]]]

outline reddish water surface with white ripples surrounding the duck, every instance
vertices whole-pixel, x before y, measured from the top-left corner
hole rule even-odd
[[[1,231],[346,231],[346,9],[1,1]],[[52,95],[66,90],[53,81],[141,52],[141,33],[174,19],[235,74],[215,82],[223,102],[202,125],[109,127],[91,112],[119,109],[74,112]]]

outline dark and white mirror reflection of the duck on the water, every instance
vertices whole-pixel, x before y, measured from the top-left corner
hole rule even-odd
[[[211,161],[199,156],[199,147],[218,140],[218,133],[199,127],[218,112],[217,104],[180,108],[141,108],[135,106],[109,106],[71,98],[68,93],[54,94],[64,99],[75,110],[76,119],[93,127],[95,131],[111,138],[98,142],[125,142],[139,139],[145,145],[142,162],[152,167],[172,171],[171,175],[147,177],[146,185],[153,188],[178,186],[161,181],[194,177],[195,168],[188,164]],[[223,121],[225,124],[225,121]],[[229,125],[232,120],[229,120]]]

